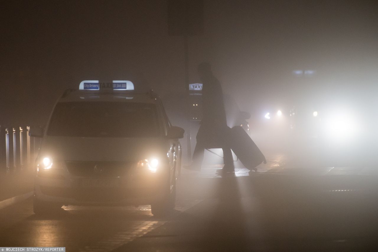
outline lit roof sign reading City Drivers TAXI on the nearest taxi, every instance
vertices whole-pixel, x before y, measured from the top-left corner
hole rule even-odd
[[[131,81],[82,81],[79,85],[79,90],[134,90],[134,84]]]

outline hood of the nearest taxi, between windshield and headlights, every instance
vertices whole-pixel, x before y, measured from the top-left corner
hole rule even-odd
[[[39,156],[71,161],[137,161],[166,154],[163,138],[45,137]]]

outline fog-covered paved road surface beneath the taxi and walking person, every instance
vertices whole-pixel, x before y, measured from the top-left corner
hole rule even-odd
[[[308,160],[307,160],[308,161]],[[259,172],[237,166],[185,171],[177,207],[155,218],[149,206],[64,207],[33,215],[32,201],[0,210],[0,246],[64,246],[67,251],[333,251],[377,244],[378,171],[268,157]]]

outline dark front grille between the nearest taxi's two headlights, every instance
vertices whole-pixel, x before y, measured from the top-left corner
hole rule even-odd
[[[73,162],[67,161],[70,174],[82,177],[124,177],[130,170],[126,162]]]

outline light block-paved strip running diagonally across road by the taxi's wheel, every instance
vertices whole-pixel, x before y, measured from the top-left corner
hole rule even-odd
[[[176,207],[176,210],[179,210],[181,213],[188,210],[191,207],[194,207],[198,203],[200,203],[202,200],[192,200],[192,201],[186,201],[184,202],[183,207]],[[178,213],[180,214],[180,213]],[[177,215],[174,215],[175,217]],[[128,230],[122,230],[111,237],[105,238],[104,240],[98,241],[94,244],[91,244],[90,246],[85,246],[84,249],[80,250],[81,252],[109,252],[112,250],[115,250],[127,243],[130,243],[131,241],[135,240],[136,238],[139,238],[143,235],[146,235],[147,233],[151,232],[154,229],[157,229],[158,227],[163,226],[166,222],[169,220],[159,221],[137,221],[135,226],[132,227],[132,230],[128,228]]]

